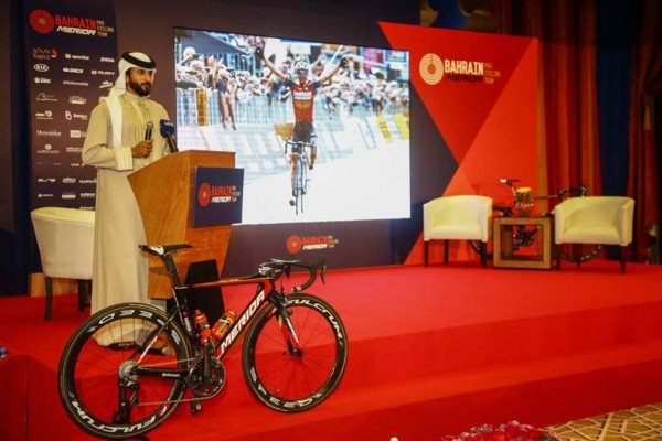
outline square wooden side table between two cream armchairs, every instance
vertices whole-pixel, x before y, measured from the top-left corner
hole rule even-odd
[[[493,227],[494,268],[552,268],[552,217],[494,217]],[[530,246],[515,245],[520,230],[532,236]]]

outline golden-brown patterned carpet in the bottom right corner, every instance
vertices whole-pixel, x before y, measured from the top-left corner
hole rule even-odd
[[[660,441],[662,402],[551,426],[564,441]]]

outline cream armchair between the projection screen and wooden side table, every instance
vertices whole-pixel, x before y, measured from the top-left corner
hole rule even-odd
[[[480,195],[441,196],[423,205],[423,240],[425,266],[429,243],[444,240],[444,262],[448,263],[449,240],[473,240],[480,244],[480,261],[487,266],[492,198]]]

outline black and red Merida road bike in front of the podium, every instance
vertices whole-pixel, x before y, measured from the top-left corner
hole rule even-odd
[[[87,319],[67,342],[57,384],[73,421],[103,439],[146,439],[179,404],[188,401],[197,412],[202,400],[223,388],[222,361],[244,332],[244,379],[261,404],[292,413],[329,397],[345,369],[348,335],[329,303],[302,292],[318,272],[323,281],[324,258],[273,259],[249,277],[182,284],[173,260],[182,248],[191,246],[140,246],[166,265],[172,281],[170,311],[140,303],[108,306]],[[286,292],[281,277],[289,278],[296,268],[309,277]],[[254,284],[256,293],[244,311],[228,311],[213,326],[189,306],[192,290],[245,284]]]

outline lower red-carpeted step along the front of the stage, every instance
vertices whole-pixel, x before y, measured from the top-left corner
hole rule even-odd
[[[392,366],[398,369],[406,363],[407,356],[401,355]],[[223,426],[222,439],[233,441],[303,441],[311,433],[316,440],[418,441],[481,423],[520,420],[543,427],[594,415],[596,399],[602,401],[600,411],[653,402],[662,394],[662,338],[380,385],[343,383],[327,402],[299,415],[264,408],[245,394],[243,384],[236,385],[237,379],[235,375],[234,390],[205,404],[200,416],[180,409],[178,424],[158,429],[154,439],[181,440],[201,417]],[[246,415],[256,423],[246,424]],[[269,428],[266,433],[264,427]]]

